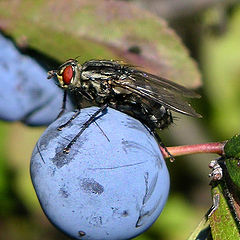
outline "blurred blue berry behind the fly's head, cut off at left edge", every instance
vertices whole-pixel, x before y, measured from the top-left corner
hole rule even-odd
[[[49,125],[61,109],[63,92],[35,60],[0,35],[0,119]],[[72,109],[71,103],[67,103]]]

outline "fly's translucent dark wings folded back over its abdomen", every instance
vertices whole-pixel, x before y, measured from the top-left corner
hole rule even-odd
[[[167,79],[128,68],[128,74],[114,84],[143,98],[155,101],[170,110],[193,117],[201,117],[182,96],[196,98],[198,94]],[[125,70],[125,72],[127,72]]]

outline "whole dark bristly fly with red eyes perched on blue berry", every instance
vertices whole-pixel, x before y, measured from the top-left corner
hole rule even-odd
[[[197,98],[198,94],[168,79],[138,70],[120,61],[90,60],[81,65],[76,59],[69,59],[57,70],[48,72],[48,78],[54,75],[57,76],[58,85],[64,89],[60,115],[65,109],[67,93],[77,100],[78,109],[59,130],[79,114],[85,102],[100,107],[64,149],[65,153],[69,152],[81,133],[108,106],[140,120],[156,137],[158,130],[168,127],[173,122],[171,111],[201,117],[183,99]]]

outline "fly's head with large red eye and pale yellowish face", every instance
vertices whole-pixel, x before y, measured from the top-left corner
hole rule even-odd
[[[80,82],[81,65],[75,59],[69,59],[57,70],[48,72],[48,79],[57,76],[59,86],[63,89],[74,89],[81,87]]]

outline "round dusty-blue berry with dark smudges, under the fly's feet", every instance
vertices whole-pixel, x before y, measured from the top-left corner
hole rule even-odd
[[[138,120],[107,109],[72,145],[64,147],[97,110],[73,112],[53,122],[32,154],[31,178],[49,220],[75,239],[129,239],[160,215],[169,173],[159,146]]]

